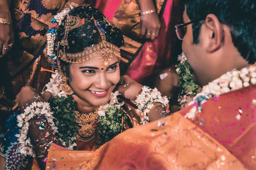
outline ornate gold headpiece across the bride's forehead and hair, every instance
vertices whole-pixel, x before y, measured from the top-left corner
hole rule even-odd
[[[118,46],[115,46],[108,41],[106,41],[106,36],[104,34],[104,30],[100,26],[100,24],[92,18],[95,22],[95,26],[97,27],[101,42],[97,45],[88,46],[84,48],[83,52],[79,53],[67,53],[65,52],[65,48],[63,50],[60,50],[59,52],[59,58],[65,62],[69,63],[81,63],[86,60],[93,59],[95,55],[99,55],[99,59],[102,62],[108,62],[112,58],[112,54],[116,55],[117,57],[121,57],[120,55],[120,48]],[[64,38],[61,39],[60,45],[68,46],[68,32],[72,29],[75,29],[81,25],[84,24],[84,18],[74,17],[74,16],[67,16],[67,20],[65,22],[65,35]]]

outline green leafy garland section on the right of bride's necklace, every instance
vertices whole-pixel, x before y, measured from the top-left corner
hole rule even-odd
[[[99,133],[104,143],[120,134],[122,129],[122,117],[124,117],[124,122],[128,118],[117,106],[106,108],[105,115],[104,117],[100,117],[99,122]]]

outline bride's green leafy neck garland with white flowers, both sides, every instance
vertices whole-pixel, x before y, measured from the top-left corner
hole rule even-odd
[[[62,80],[61,74],[58,73],[58,71],[56,71],[55,74],[52,74],[52,78],[50,82],[47,83],[47,85],[45,85],[45,87],[47,87],[45,91],[51,92],[53,96],[52,100],[49,102],[51,103],[51,106],[52,106],[51,108],[55,117],[54,121],[58,126],[58,128],[61,127],[61,129],[59,129],[58,136],[63,140],[65,146],[75,146],[76,145],[75,136],[78,130],[76,126],[76,119],[75,119],[75,112],[74,112],[76,110],[75,102],[72,96],[68,96],[67,94],[65,94],[65,92],[62,91],[60,86],[61,80]],[[106,115],[110,114],[109,111],[112,113],[113,111],[111,110],[116,110],[116,112],[119,113],[121,110],[121,106],[124,104],[124,103],[118,102],[118,99],[117,99],[118,95],[120,95],[118,91],[116,91],[115,93],[112,93],[109,103],[103,106],[100,106],[98,110],[98,114],[100,116],[99,126],[109,130],[105,132],[100,132],[100,135],[104,139],[108,139],[107,136],[109,135],[109,132],[111,132],[111,128],[109,127],[107,128],[104,126],[111,125],[111,127],[113,127],[112,124],[114,121],[114,120],[110,120],[108,116],[106,117]],[[120,118],[119,119],[116,118],[115,120],[116,122],[121,122]],[[112,123],[110,124],[110,122]],[[120,133],[120,131],[118,133]]]

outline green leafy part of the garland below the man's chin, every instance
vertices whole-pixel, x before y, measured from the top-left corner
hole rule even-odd
[[[200,91],[200,87],[196,85],[193,81],[193,69],[188,63],[188,60],[177,64],[175,67],[179,68],[177,74],[179,75],[179,97],[189,94],[189,96],[194,97]]]

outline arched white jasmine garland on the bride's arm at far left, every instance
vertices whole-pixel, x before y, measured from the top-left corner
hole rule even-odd
[[[30,104],[24,110],[24,113],[17,116],[18,126],[21,127],[20,134],[16,134],[16,137],[20,143],[20,153],[23,155],[31,155],[35,157],[33,152],[33,146],[28,138],[29,120],[36,115],[44,115],[47,122],[52,128],[54,133],[58,132],[58,128],[55,127],[52,117],[52,112],[49,103],[45,102],[34,102]]]

